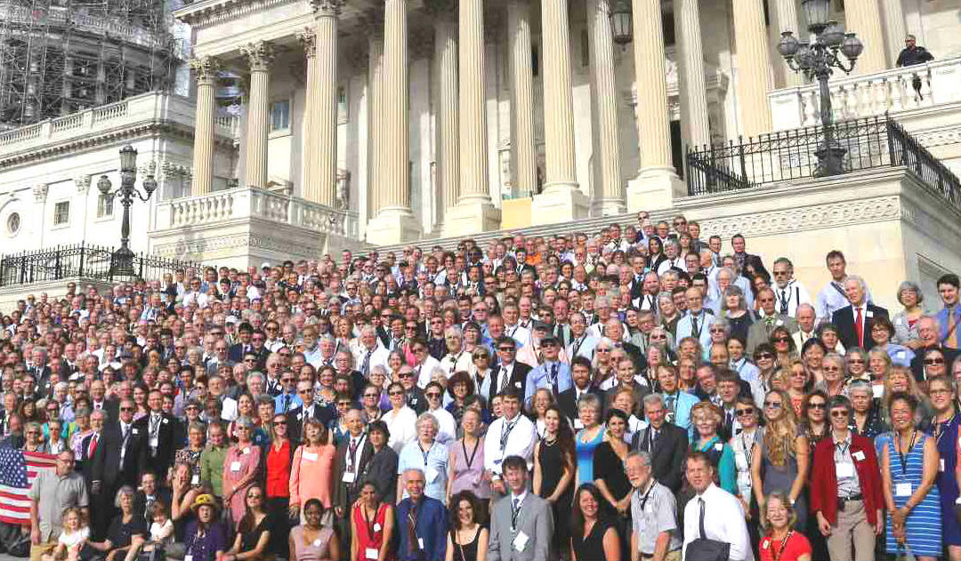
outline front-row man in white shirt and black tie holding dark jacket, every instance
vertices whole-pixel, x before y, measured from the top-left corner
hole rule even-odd
[[[731,561],[753,561],[751,536],[744,522],[744,509],[733,495],[714,484],[714,466],[702,451],[687,454],[687,482],[696,493],[684,507],[684,552],[699,538],[725,542],[730,545]],[[700,522],[704,519],[704,535]]]

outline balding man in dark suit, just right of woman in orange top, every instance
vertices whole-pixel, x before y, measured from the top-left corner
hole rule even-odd
[[[359,409],[351,409],[344,415],[347,438],[337,446],[333,454],[333,512],[337,517],[341,539],[351,539],[351,505],[360,493],[360,483],[367,471],[367,464],[374,456],[374,447],[364,434],[363,419]]]

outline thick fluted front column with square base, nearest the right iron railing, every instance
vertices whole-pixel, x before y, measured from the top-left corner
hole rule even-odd
[[[628,211],[669,208],[685,194],[671,159],[671,123],[664,73],[659,0],[633,0],[634,90],[641,169],[628,183]]]

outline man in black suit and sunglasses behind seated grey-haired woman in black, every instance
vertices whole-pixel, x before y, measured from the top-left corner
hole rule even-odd
[[[113,498],[117,490],[124,485],[136,487],[136,477],[143,467],[140,461],[144,457],[143,449],[147,446],[147,434],[134,426],[135,411],[134,400],[121,400],[119,421],[104,425],[100,442],[93,451],[91,491],[105,508],[101,512],[108,515],[103,517],[104,530],[112,518]],[[99,520],[101,517],[96,518]]]

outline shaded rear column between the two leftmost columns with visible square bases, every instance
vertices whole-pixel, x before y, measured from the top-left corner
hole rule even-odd
[[[457,204],[460,181],[457,115],[457,24],[456,2],[433,0],[427,3],[433,16],[433,67],[437,73],[437,205],[441,226],[448,209]]]

